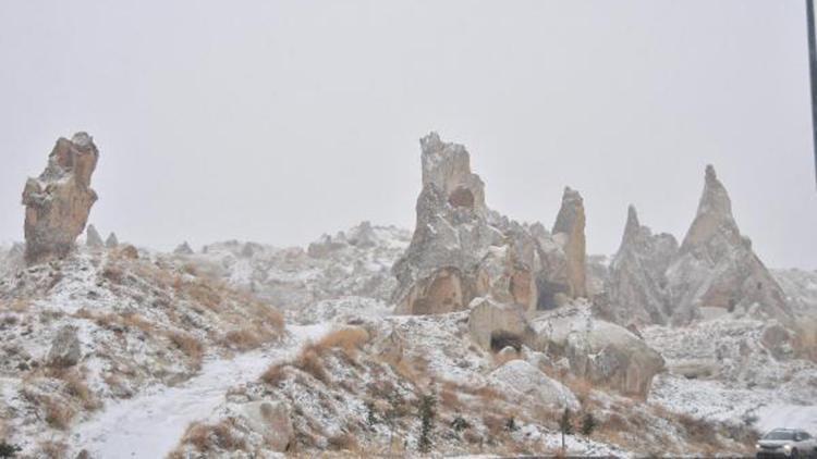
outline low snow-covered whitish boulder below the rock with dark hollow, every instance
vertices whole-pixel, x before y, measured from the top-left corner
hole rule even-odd
[[[524,360],[511,360],[488,375],[489,384],[521,406],[542,405],[551,409],[580,408],[573,393]]]

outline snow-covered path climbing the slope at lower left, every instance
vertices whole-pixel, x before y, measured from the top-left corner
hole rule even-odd
[[[206,362],[199,374],[178,387],[109,405],[92,420],[80,424],[72,443],[93,457],[163,458],[178,444],[187,425],[208,417],[224,400],[230,387],[254,381],[275,359],[289,357],[308,339],[317,339],[327,324],[288,326],[294,344],[239,355],[230,360]]]

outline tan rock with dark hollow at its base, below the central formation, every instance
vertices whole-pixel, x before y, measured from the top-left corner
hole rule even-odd
[[[500,303],[488,298],[474,300],[468,315],[468,333],[483,349],[500,350],[502,339],[515,337],[520,343],[535,339],[535,332],[520,305]]]

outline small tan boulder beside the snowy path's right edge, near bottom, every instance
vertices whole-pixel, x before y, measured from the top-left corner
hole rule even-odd
[[[289,409],[282,401],[251,401],[242,413],[253,432],[264,435],[265,446],[276,452],[285,451],[295,437]]]

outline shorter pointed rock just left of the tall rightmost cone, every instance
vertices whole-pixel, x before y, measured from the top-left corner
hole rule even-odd
[[[653,235],[630,206],[624,236],[606,282],[609,309],[605,315],[624,325],[666,324],[670,307],[664,273],[676,252],[675,238]]]

